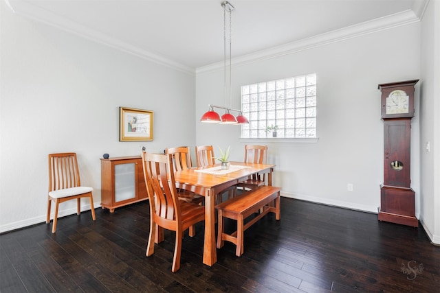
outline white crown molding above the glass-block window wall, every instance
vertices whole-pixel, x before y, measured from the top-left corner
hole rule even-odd
[[[424,2],[424,0],[422,0]],[[421,10],[419,10],[421,12]],[[349,27],[344,27],[339,30],[333,30],[325,34],[319,34],[296,42],[287,43],[285,45],[272,47],[252,54],[239,56],[232,58],[232,65],[245,65],[248,63],[266,60],[270,58],[276,58],[285,56],[288,54],[294,54],[299,51],[305,51],[315,47],[321,47],[329,45],[331,43],[341,42],[350,38],[357,38],[358,36],[364,36],[366,34],[374,34],[384,30],[390,30],[402,25],[408,25],[411,23],[417,23],[420,19],[412,10],[405,10],[396,14],[381,17],[379,19],[373,19],[364,23],[358,23]],[[223,67],[223,62],[216,62],[211,65],[203,67],[197,67],[196,74],[204,73],[208,71],[216,71]]]

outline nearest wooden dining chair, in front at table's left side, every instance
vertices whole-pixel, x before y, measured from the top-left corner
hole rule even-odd
[[[171,154],[143,152],[142,163],[151,218],[146,256],[153,255],[155,243],[158,244],[164,240],[164,228],[175,231],[176,240],[171,271],[176,272],[180,268],[182,235],[187,228],[189,228],[190,237],[195,235],[194,225],[205,220],[205,207],[179,200]]]

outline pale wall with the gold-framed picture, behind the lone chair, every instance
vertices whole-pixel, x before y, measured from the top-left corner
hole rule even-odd
[[[195,75],[0,8],[0,232],[45,221],[49,153],[78,153],[98,207],[102,154],[194,144],[195,122],[182,113],[195,115]],[[120,106],[155,111],[154,141],[118,141]],[[61,205],[61,215],[74,212],[74,202]]]

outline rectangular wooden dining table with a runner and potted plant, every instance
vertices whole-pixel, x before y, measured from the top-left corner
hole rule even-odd
[[[217,262],[215,202],[221,191],[228,189],[253,174],[267,174],[267,185],[272,185],[275,165],[230,162],[229,169],[221,164],[193,167],[175,172],[177,188],[186,189],[205,197],[205,235],[203,242],[203,263],[212,266]]]

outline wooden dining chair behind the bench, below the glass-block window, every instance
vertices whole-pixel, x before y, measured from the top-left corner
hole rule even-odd
[[[265,164],[267,162],[267,145],[245,145],[244,161],[245,163]],[[237,186],[248,190],[265,184],[265,174],[254,174]]]

